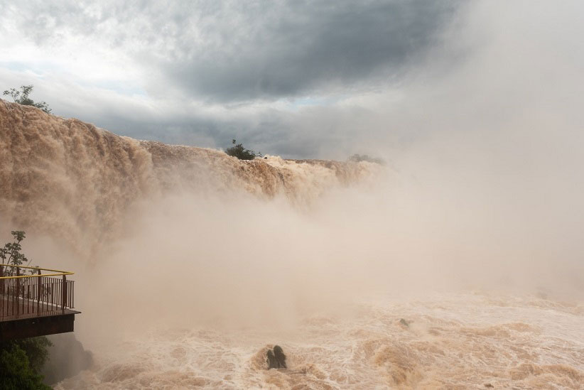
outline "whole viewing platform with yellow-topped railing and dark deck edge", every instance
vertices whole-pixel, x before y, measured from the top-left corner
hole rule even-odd
[[[0,342],[73,331],[72,272],[0,265]]]

